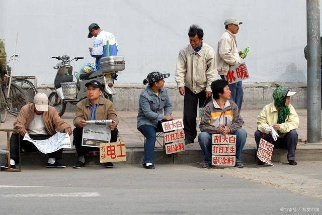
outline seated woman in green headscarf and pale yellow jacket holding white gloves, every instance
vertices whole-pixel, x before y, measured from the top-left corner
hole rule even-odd
[[[290,104],[291,95],[295,93],[285,86],[277,87],[273,92],[274,101],[267,104],[257,117],[258,130],[255,132],[257,148],[261,138],[274,144],[274,148],[286,148],[290,165],[297,164],[295,150],[299,120],[294,107]],[[259,161],[258,164],[264,163]]]

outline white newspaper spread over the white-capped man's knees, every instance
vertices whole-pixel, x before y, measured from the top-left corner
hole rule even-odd
[[[33,140],[28,133],[26,133],[24,140],[33,143],[37,149],[44,154],[55,152],[61,148],[71,149],[70,139],[67,133],[57,132],[46,140]]]

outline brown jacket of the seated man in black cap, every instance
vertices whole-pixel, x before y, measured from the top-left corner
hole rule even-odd
[[[74,126],[79,127],[80,120],[91,120],[91,107],[90,100],[88,98],[79,101],[76,104],[76,115],[74,118]],[[106,98],[100,97],[98,106],[95,111],[96,120],[114,120],[116,126],[119,124],[119,119],[114,111],[113,102]]]

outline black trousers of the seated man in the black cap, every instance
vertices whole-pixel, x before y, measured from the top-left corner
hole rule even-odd
[[[117,134],[119,131],[117,128],[111,132],[111,143],[115,143],[117,141]],[[100,148],[98,147],[89,147],[89,146],[82,146],[82,139],[83,139],[83,128],[75,127],[72,131],[72,135],[74,137],[72,144],[76,148],[76,152],[78,156],[85,155],[88,151],[99,151]]]

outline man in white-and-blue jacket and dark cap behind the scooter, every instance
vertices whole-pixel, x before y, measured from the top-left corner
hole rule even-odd
[[[106,49],[109,48],[109,54],[117,55],[118,44],[112,33],[101,30],[98,24],[92,23],[89,26],[88,38],[95,37],[93,47],[90,47],[90,53],[92,57],[95,57],[95,66],[99,70],[101,68],[101,58],[106,57]],[[109,41],[109,47],[107,47],[106,41]]]

